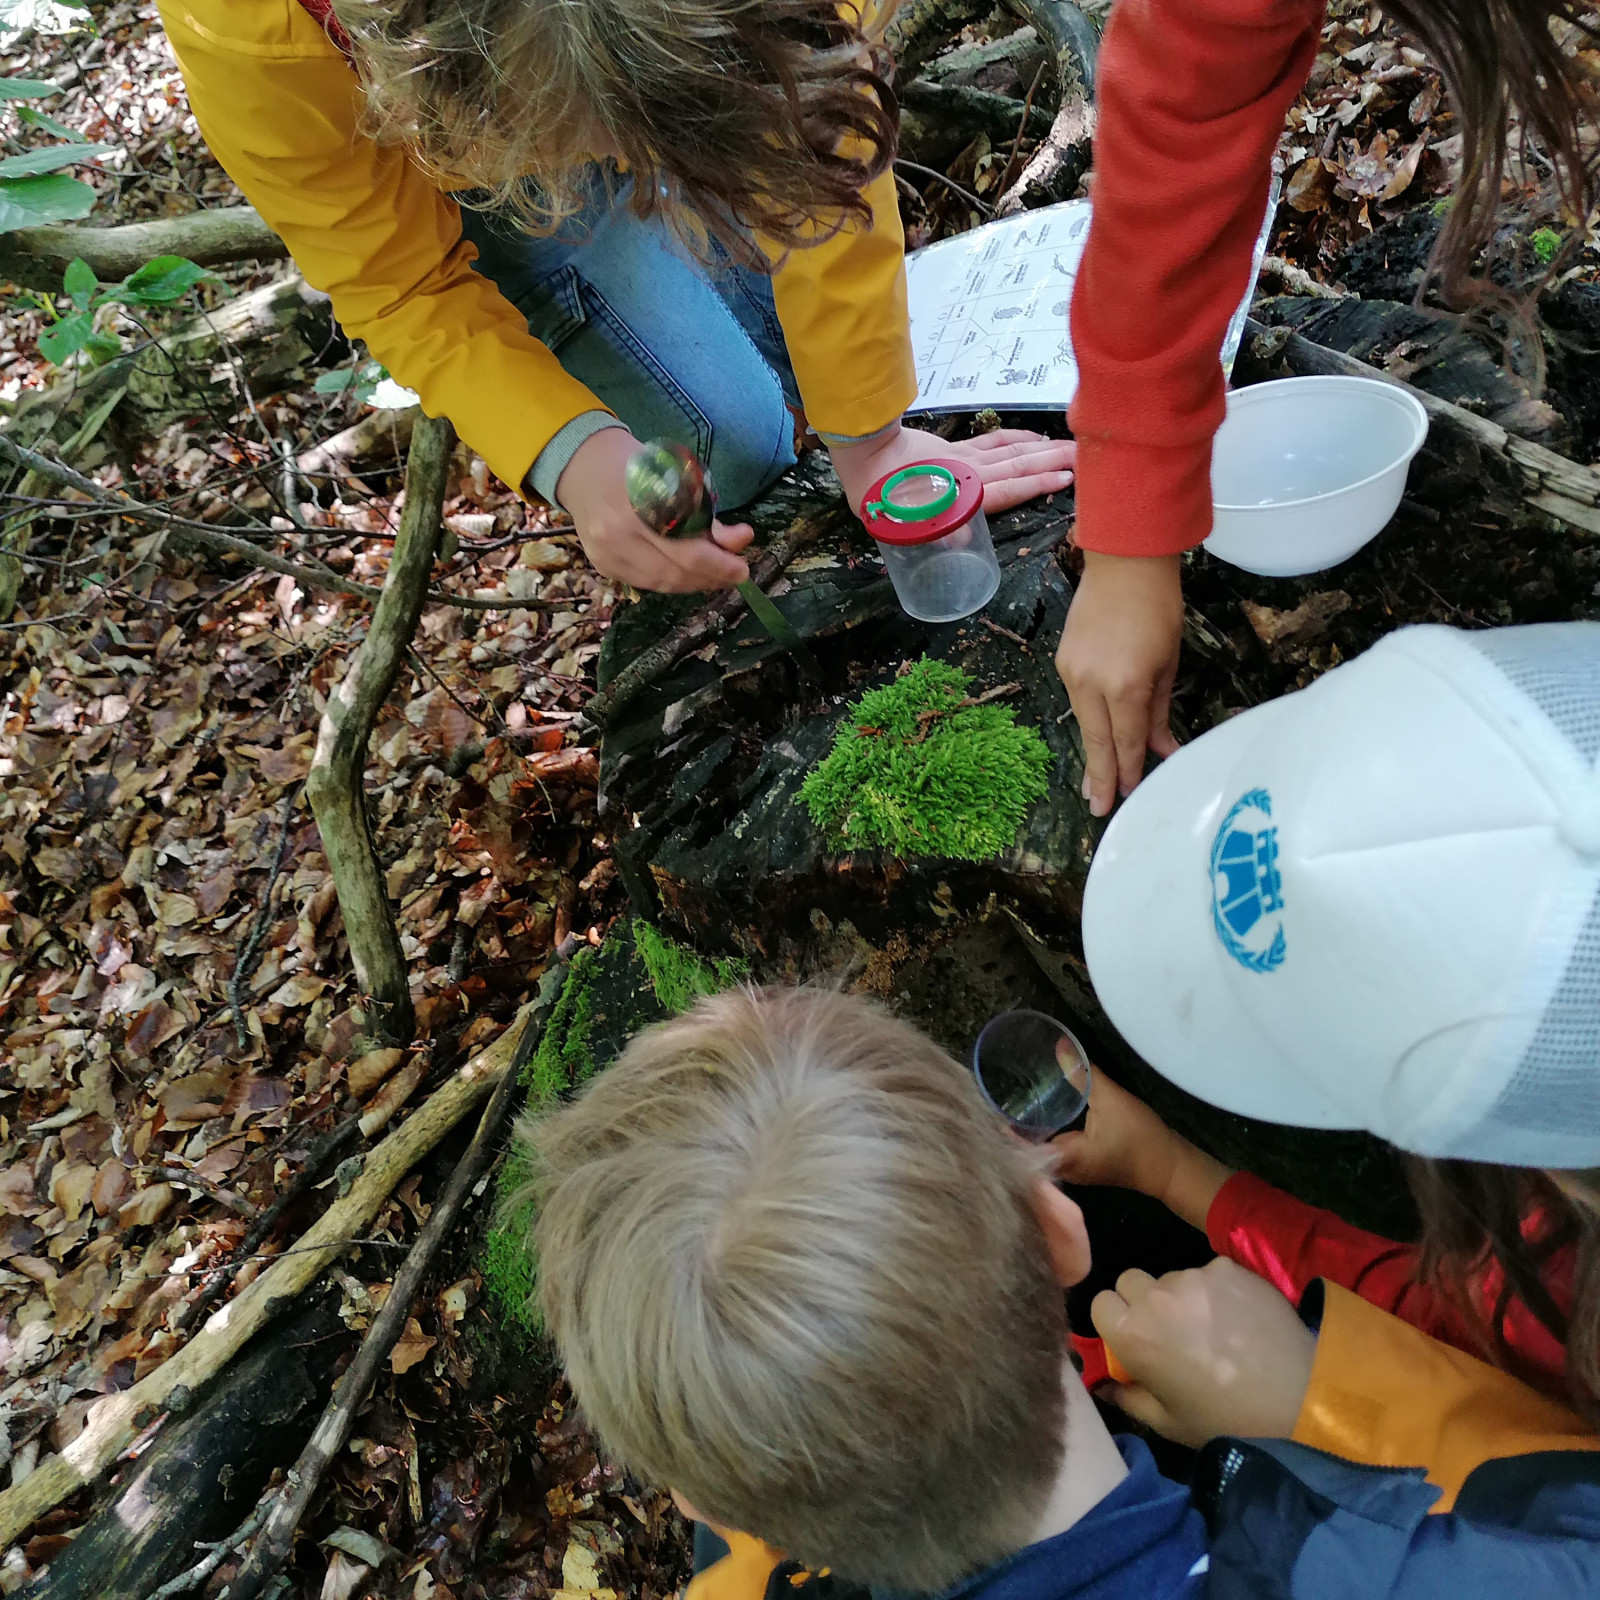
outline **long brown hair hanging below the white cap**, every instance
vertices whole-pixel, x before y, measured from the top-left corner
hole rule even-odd
[[[1506,1331],[1515,1301],[1566,1349],[1573,1406],[1600,1426],[1600,1173],[1544,1173],[1486,1162],[1406,1157],[1422,1214],[1419,1278],[1446,1293],[1482,1336],[1483,1355],[1531,1378]],[[1550,1291],[1550,1262],[1573,1251],[1570,1309]],[[1472,1293],[1488,1262],[1504,1274],[1493,1306]]]

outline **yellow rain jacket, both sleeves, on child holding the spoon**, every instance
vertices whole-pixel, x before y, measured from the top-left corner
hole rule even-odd
[[[211,154],[422,410],[520,486],[574,418],[608,410],[472,270],[461,211],[403,152],[357,131],[355,70],[298,0],[158,0]],[[885,173],[853,224],[778,261],[773,294],[806,419],[861,437],[915,398],[906,242]]]

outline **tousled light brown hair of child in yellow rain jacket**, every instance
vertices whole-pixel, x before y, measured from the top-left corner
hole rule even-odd
[[[760,266],[870,208],[899,109],[885,16],[837,0],[334,0],[366,126],[448,187],[549,232],[590,198],[589,158],[630,206]]]

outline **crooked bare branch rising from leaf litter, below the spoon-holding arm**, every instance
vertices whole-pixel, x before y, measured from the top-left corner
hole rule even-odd
[[[306,779],[339,891],[355,978],[370,1006],[368,1034],[386,1045],[410,1043],[414,1018],[400,933],[366,822],[366,741],[427,600],[454,442],[456,432],[445,419],[424,419],[411,435],[405,512],[384,592],[362,648],[328,698]]]

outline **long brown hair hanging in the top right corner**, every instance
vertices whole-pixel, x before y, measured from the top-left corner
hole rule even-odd
[[[1445,298],[1461,301],[1494,226],[1514,110],[1555,162],[1579,226],[1595,205],[1595,85],[1563,45],[1600,32],[1579,0],[1384,0],[1384,10],[1438,64],[1461,126],[1461,182],[1434,251]]]

